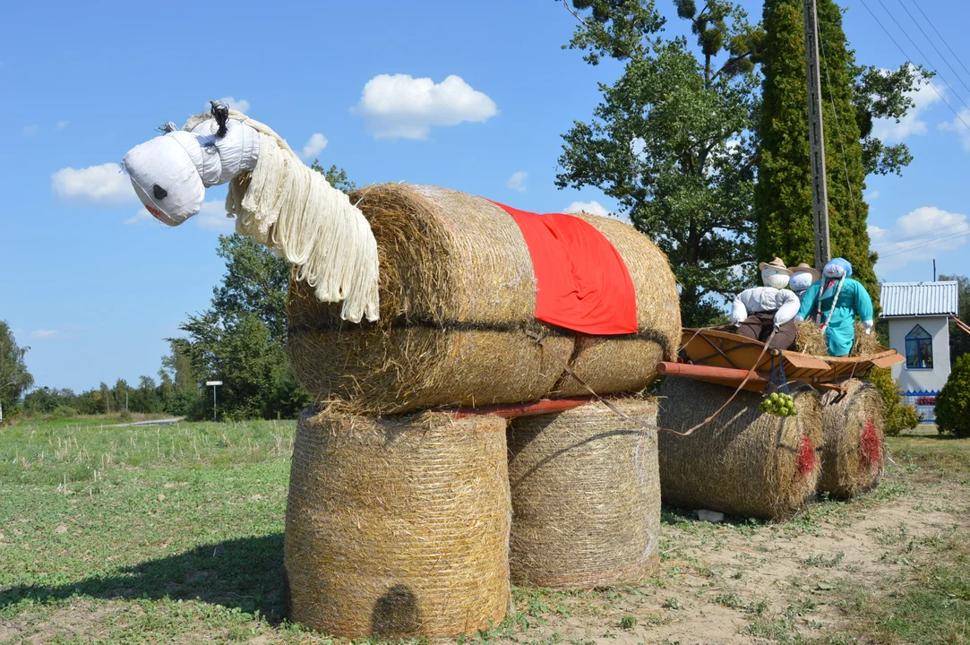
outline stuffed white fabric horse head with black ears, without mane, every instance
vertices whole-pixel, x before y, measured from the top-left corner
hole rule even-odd
[[[206,188],[256,167],[259,134],[229,118],[213,101],[212,118],[192,129],[162,126],[160,137],[136,145],[121,161],[146,210],[170,226],[202,210]]]

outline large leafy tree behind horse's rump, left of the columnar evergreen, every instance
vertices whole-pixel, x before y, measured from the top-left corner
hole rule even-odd
[[[736,5],[678,0],[696,48],[685,38],[657,37],[663,26],[653,0],[573,0],[580,18],[569,48],[585,59],[623,61],[589,122],[563,137],[560,188],[597,186],[616,199],[633,225],[670,259],[682,286],[685,325],[706,325],[722,313],[746,279],[738,265],[752,246],[757,108],[753,58],[760,32]]]

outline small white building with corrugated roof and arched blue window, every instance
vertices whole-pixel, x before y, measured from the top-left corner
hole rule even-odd
[[[882,318],[889,321],[889,346],[906,358],[892,377],[924,421],[936,417],[936,395],[950,376],[950,317],[958,316],[958,284],[884,282]]]

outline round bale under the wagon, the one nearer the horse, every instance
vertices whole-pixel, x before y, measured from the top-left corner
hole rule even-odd
[[[734,388],[667,377],[660,425],[684,432],[723,405]],[[730,515],[781,518],[816,494],[821,475],[822,412],[810,387],[792,388],[798,414],[761,412],[760,394],[739,392],[690,436],[661,433],[664,503]]]

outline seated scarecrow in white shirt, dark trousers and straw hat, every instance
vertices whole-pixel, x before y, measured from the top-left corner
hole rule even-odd
[[[785,289],[791,271],[779,258],[762,262],[758,268],[764,286],[737,295],[731,306],[731,322],[738,326],[736,333],[740,336],[768,342],[775,349],[788,349],[797,335],[794,316],[798,313],[798,297]],[[772,331],[774,337],[769,341]]]

